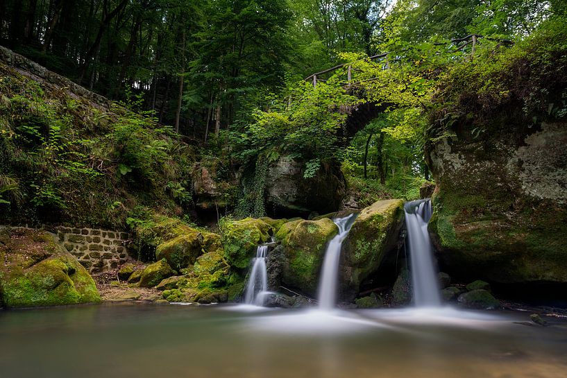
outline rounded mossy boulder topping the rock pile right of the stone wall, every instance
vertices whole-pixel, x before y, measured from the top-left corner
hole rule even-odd
[[[176,270],[187,268],[203,252],[202,242],[203,234],[189,228],[186,234],[161,243],[155,250],[155,258],[166,259],[169,266]]]

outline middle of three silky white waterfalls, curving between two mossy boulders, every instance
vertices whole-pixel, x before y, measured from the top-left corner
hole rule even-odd
[[[357,214],[350,214],[344,218],[333,219],[333,222],[339,227],[339,234],[329,241],[327,250],[325,250],[321,281],[319,282],[319,309],[330,310],[335,307],[341,247],[350,227],[355,223],[356,216]]]

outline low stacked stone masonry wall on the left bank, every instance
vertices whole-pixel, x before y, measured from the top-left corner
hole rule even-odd
[[[89,271],[117,268],[128,259],[130,234],[93,228],[57,227],[58,241]]]

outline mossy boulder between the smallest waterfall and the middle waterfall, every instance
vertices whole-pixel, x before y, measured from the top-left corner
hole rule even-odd
[[[329,218],[297,220],[282,225],[276,234],[285,255],[281,269],[282,284],[314,297],[326,246],[338,231],[337,225]]]

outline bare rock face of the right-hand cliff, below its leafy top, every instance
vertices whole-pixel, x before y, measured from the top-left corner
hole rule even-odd
[[[441,266],[462,279],[567,282],[567,124],[502,115],[477,138],[475,127],[454,126],[428,151]]]

